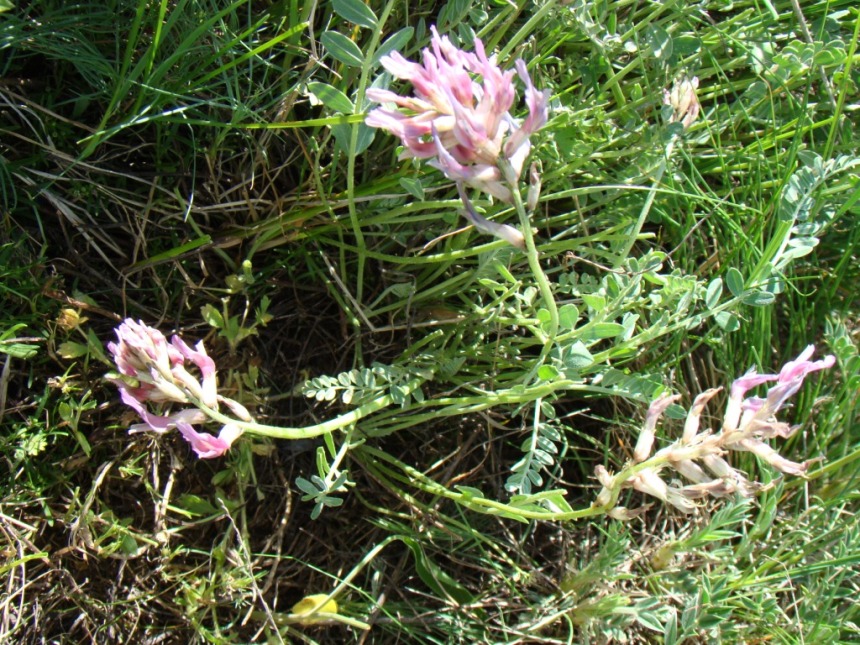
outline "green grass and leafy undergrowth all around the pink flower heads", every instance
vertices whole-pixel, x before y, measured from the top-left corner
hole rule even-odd
[[[855,638],[854,3],[14,4],[0,640]],[[380,51],[415,60],[434,24],[552,90],[530,158],[554,342],[527,256],[463,228],[452,183],[363,124]],[[702,104],[686,132],[662,96],[683,74]],[[393,404],[198,460],[177,433],[127,434],[104,378],[125,317],[204,340],[219,392],[263,423]],[[590,508],[595,466],[624,468],[657,394],[687,408],[809,343],[838,363],[772,442],[821,458],[808,479],[734,454],[770,484],[751,500]],[[311,594],[337,614],[297,617]]]

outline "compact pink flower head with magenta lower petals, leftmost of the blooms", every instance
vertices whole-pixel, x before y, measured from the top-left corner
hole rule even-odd
[[[220,457],[242,433],[235,424],[226,424],[217,437],[197,432],[192,426],[209,420],[206,409],[218,410],[218,402],[243,419],[250,415],[239,403],[218,395],[215,362],[202,342],[189,347],[179,336],[170,343],[157,329],[128,318],[116,330],[117,342],[108,343],[120,376],[112,380],[123,402],[143,419],[130,432],[153,430],[164,433],[176,428],[203,459]],[[200,377],[188,368],[194,366]],[[169,414],[150,411],[148,405],[166,407],[190,405]]]

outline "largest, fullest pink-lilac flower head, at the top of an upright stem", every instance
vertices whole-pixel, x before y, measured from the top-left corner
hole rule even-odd
[[[398,52],[382,58],[385,69],[409,81],[415,95],[368,90],[370,100],[396,108],[376,108],[366,123],[400,137],[403,157],[431,159],[430,164],[449,179],[509,202],[508,184],[519,179],[529,137],[547,121],[549,91],[537,91],[525,63],[516,61],[529,109],[518,123],[509,112],[516,98],[514,72],[499,69],[495,56],[487,57],[479,39],[475,53],[469,53],[455,47],[447,36],[440,37],[435,27],[432,32],[422,65]],[[513,176],[503,176],[500,158]]]

